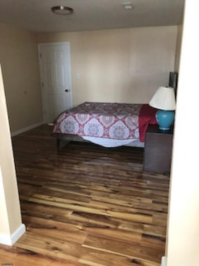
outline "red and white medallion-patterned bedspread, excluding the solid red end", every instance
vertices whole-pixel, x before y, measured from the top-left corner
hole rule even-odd
[[[115,140],[139,139],[141,104],[85,102],[54,121],[53,133]]]

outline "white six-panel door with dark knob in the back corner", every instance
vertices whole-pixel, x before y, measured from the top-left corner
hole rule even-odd
[[[45,123],[72,107],[69,43],[39,44],[39,65]]]

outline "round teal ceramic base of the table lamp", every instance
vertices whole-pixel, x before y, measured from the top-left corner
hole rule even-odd
[[[158,110],[155,118],[161,130],[169,130],[174,122],[174,111]]]

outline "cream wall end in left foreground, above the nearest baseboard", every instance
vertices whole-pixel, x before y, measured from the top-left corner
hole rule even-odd
[[[6,100],[0,68],[0,238],[11,235],[21,225]]]

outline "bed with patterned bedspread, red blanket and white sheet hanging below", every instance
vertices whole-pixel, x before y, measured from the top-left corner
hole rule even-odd
[[[144,147],[148,124],[156,124],[157,110],[148,104],[84,102],[62,112],[53,122],[60,140],[91,141],[104,147]]]

